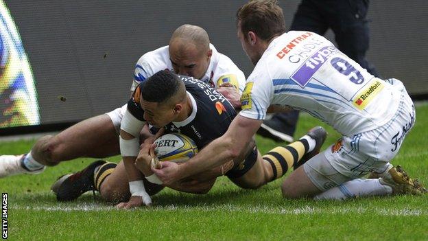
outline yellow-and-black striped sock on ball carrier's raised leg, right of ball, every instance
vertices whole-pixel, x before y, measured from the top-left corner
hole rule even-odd
[[[278,146],[263,155],[263,160],[272,165],[274,176],[271,181],[283,176],[289,168],[296,165],[307,152],[307,144],[295,141],[288,146]]]

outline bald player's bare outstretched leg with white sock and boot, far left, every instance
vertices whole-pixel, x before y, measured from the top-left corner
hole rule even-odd
[[[102,158],[119,154],[117,130],[124,108],[126,105],[107,115],[86,119],[56,136],[41,137],[27,154],[0,156],[0,177],[36,174],[43,171],[45,165],[78,157]]]

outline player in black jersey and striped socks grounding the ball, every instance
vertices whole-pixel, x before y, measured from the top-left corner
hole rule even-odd
[[[111,200],[131,198],[117,207],[150,205],[149,192],[145,192],[147,179],[162,184],[150,169],[154,157],[152,141],[145,141],[140,152],[139,133],[145,123],[165,128],[165,133],[178,132],[195,141],[201,150],[213,139],[221,137],[237,115],[235,108],[208,84],[193,78],[176,76],[170,71],[159,71],[141,82],[128,102],[128,109],[121,123],[121,154],[123,164],[116,170],[114,163],[97,161],[76,174],[64,176],[54,184],[58,200],[73,200],[88,190],[98,190],[102,197]],[[299,141],[289,146],[278,146],[261,155],[250,141],[239,157],[214,167],[209,172],[198,173],[188,181],[170,183],[169,187],[183,192],[206,193],[217,176],[226,174],[236,185],[256,189],[280,178],[289,168],[296,168],[317,154],[324,143],[326,132],[322,127],[313,128]],[[149,150],[152,151],[149,154]],[[137,158],[138,156],[138,158]],[[123,168],[123,166],[125,168]],[[112,173],[110,175],[110,173]],[[130,193],[127,188],[129,181]],[[121,192],[109,192],[109,185],[121,185]]]

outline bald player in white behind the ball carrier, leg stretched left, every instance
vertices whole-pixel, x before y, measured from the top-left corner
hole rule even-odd
[[[241,92],[245,86],[243,72],[211,45],[205,30],[194,25],[178,27],[168,46],[150,51],[136,62],[131,93],[139,82],[164,69],[198,78],[215,88],[224,84],[228,88],[221,89],[233,89],[232,92]],[[120,154],[119,126],[125,110],[126,105],[79,122],[58,135],[41,137],[27,154],[1,155],[0,178],[38,174],[45,166],[78,157],[103,158]]]

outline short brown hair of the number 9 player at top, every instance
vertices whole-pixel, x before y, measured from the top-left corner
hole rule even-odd
[[[263,41],[286,32],[284,14],[276,0],[252,0],[237,11],[237,23],[244,38],[252,31]]]

